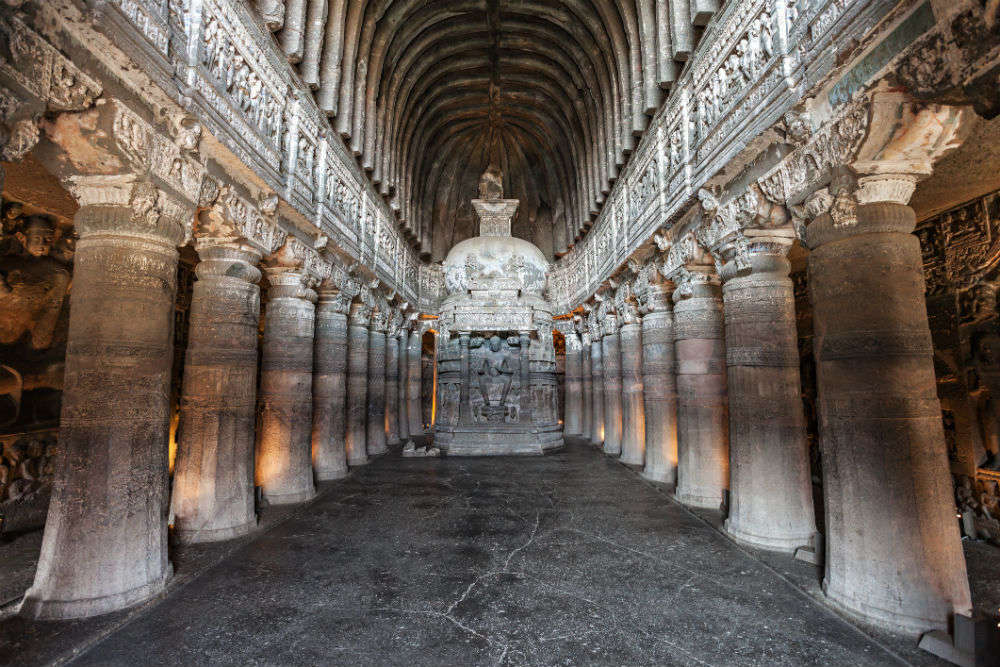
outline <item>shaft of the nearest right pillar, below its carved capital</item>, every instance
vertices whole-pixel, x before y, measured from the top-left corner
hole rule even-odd
[[[824,214],[807,232],[826,506],[823,589],[852,615],[919,633],[947,627],[952,613],[970,613],[971,602],[920,244],[911,234],[915,215],[908,195],[883,201],[877,194],[866,193],[871,203],[840,224]],[[839,206],[839,217],[845,209]]]

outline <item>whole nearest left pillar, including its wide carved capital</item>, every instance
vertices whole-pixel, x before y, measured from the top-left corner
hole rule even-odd
[[[171,574],[177,245],[193,219],[203,169],[115,100],[47,120],[45,130],[36,156],[76,198],[80,238],[56,473],[34,584],[20,612],[63,619],[142,602]],[[189,178],[170,172],[175,158]],[[102,172],[81,173],[78,165]]]

